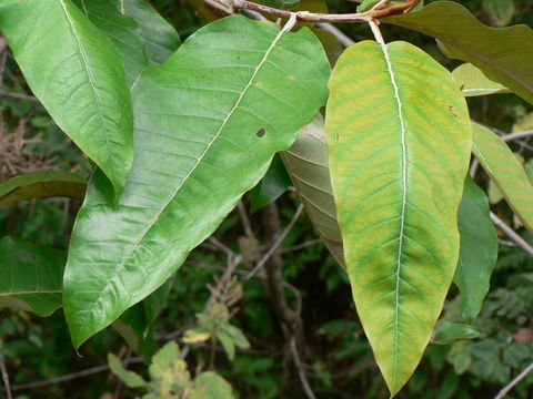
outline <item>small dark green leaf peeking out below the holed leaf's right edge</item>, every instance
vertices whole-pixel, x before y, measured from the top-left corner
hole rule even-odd
[[[250,213],[273,203],[291,185],[285,166],[281,158],[275,155],[269,170],[259,184],[250,192]]]

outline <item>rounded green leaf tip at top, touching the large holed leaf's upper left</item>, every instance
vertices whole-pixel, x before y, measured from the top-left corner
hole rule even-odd
[[[114,0],[117,3],[120,0]],[[144,0],[124,0],[124,12],[141,28],[148,59],[153,65],[163,63],[181,44],[172,25]],[[120,4],[117,4],[120,7]]]

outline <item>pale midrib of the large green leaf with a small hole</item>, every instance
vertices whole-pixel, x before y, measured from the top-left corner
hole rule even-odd
[[[174,190],[174,192],[172,193],[172,195],[169,196],[169,198],[164,202],[163,206],[161,207],[161,212],[159,212],[155,217],[150,222],[150,224],[148,225],[147,229],[141,234],[141,236],[139,237],[139,239],[135,242],[135,244],[132,246],[132,248],[128,252],[128,254],[122,258],[122,260],[120,262],[120,264],[117,266],[117,269],[113,274],[113,276],[111,278],[109,278],[108,282],[111,282],[113,280],[117,275],[120,273],[120,270],[124,267],[125,265],[125,262],[130,258],[131,254],[133,254],[133,252],[137,249],[137,247],[139,246],[139,244],[141,243],[141,241],[147,236],[147,234],[150,232],[150,229],[153,227],[153,225],[159,221],[159,217],[160,215],[164,212],[164,209],[169,206],[169,204],[172,202],[172,200],[175,197],[175,195],[178,194],[178,192],[181,190],[181,187],[183,186],[183,184],[185,184],[185,182],[189,180],[189,177],[192,175],[192,173],[197,170],[198,165],[200,165],[200,163],[202,162],[202,160],[204,158],[205,154],[209,152],[209,150],[211,149],[211,145],[213,145],[213,143],[217,141],[217,139],[222,134],[222,131],[224,130],[225,125],[228,124],[228,121],[230,120],[230,117],[232,116],[233,112],[235,112],[235,110],[239,108],[239,104],[241,103],[243,96],[247,94],[248,90],[250,89],[250,86],[252,85],[255,76],[258,75],[261,66],[263,66],[263,64],[266,62],[266,59],[269,58],[270,53],[272,52],[272,50],[274,49],[275,44],[278,43],[278,41],[281,39],[281,37],[283,35],[283,33],[285,33],[285,30],[281,30],[278,35],[275,37],[275,39],[272,41],[272,44],[269,47],[269,49],[266,50],[266,52],[264,53],[264,57],[261,59],[260,63],[258,64],[258,66],[254,69],[253,73],[252,73],[252,76],[250,78],[250,80],[248,81],[247,85],[244,86],[244,89],[242,90],[241,94],[239,95],[239,99],[237,100],[235,104],[233,105],[233,108],[230,110],[230,112],[228,113],[228,115],[225,116],[225,119],[222,121],[222,124],[220,125],[219,130],[217,131],[217,133],[214,134],[213,139],[211,139],[211,141],[208,143],[208,145],[205,146],[205,150],[200,154],[200,156],[198,157],[197,162],[194,163],[194,165],[191,167],[191,170],[189,171],[189,173],[183,177],[183,180],[181,181],[180,185],[178,185],[178,187]],[[105,284],[105,286],[102,288],[102,290],[100,291],[98,298],[92,303],[90,309],[87,311],[88,314],[90,314],[94,307],[95,304],[98,304],[98,301],[101,299],[102,297],[102,293],[109,287],[109,283]],[[79,338],[79,335],[80,335],[80,331],[81,329],[78,330],[78,335],[77,335],[77,338]],[[78,341],[78,339],[76,340]]]

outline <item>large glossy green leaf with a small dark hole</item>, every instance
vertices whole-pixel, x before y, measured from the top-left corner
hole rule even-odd
[[[77,347],[161,286],[217,228],[323,105],[329,73],[308,29],[283,34],[241,16],[199,30],[143,72],[124,193],[107,203],[97,173],[74,225],[63,300]]]

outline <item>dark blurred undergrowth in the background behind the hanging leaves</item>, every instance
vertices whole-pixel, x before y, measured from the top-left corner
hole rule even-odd
[[[461,2],[481,21],[493,27],[533,25],[532,0]],[[152,0],[152,3],[183,39],[207,21],[220,17],[207,9],[202,0]],[[344,0],[328,0],[326,3],[303,0],[299,4],[264,0],[264,3],[286,9],[329,9],[330,12],[354,12],[358,6]],[[339,24],[339,28],[355,41],[372,39],[364,24]],[[383,34],[388,41],[405,40],[423,48],[449,69],[457,65],[457,62],[445,59],[429,37],[391,25],[383,28]],[[334,62],[341,51],[340,44],[332,38],[325,38],[323,42]],[[0,61],[7,53],[3,54]],[[20,98],[0,94],[0,180],[50,168],[88,177],[89,161],[54,125],[39,102],[33,101],[13,59],[7,57],[4,61],[0,91],[20,94]],[[474,120],[502,132],[533,129],[532,106],[513,94],[471,98],[469,105]],[[513,151],[523,160],[530,178],[533,177],[532,150],[527,142],[513,144]],[[532,242],[531,236],[513,221],[494,187],[489,186],[486,177],[480,173],[477,182],[489,191],[493,211],[514,225],[524,239]],[[299,200],[291,191],[279,198],[282,226],[288,225],[298,205]],[[79,206],[76,201],[52,198],[0,207],[0,228],[3,235],[66,249]],[[262,237],[260,212],[251,215],[250,221],[253,232]],[[177,273],[167,306],[155,321],[155,345],[160,348],[167,341],[177,340],[182,349],[187,347],[182,354],[187,350],[190,371],[214,369],[231,383],[239,398],[304,398],[298,374],[288,360],[283,331],[269,306],[263,279],[233,279],[229,287],[237,289],[231,294],[237,299],[219,301],[221,307],[218,309],[233,331],[231,339],[224,342],[202,330],[209,330],[210,323],[221,319],[220,313],[213,316],[208,311],[212,298],[209,287],[219,284],[228,268],[228,249],[243,255],[247,264],[247,256],[248,262],[253,262],[254,250],[264,245],[261,238],[254,242],[243,237],[245,234],[235,211],[215,233],[214,243],[218,245],[205,243],[191,254]],[[346,276],[316,238],[310,222],[302,216],[282,244],[283,279],[298,291],[295,295],[286,289],[285,294],[291,304],[301,300],[305,339],[303,367],[310,383],[318,398],[386,398],[385,385],[358,321]],[[482,330],[481,337],[430,345],[422,365],[399,398],[492,398],[532,361],[533,259],[521,249],[509,246],[503,235],[501,238],[491,291],[474,321]],[[234,275],[242,277],[241,274],[245,273],[245,269],[237,269]],[[444,311],[444,319],[449,321],[461,320],[457,295],[452,287]],[[14,386],[13,393],[19,399],[138,397],[135,389],[120,382],[107,369],[110,352],[122,359],[132,359],[129,368],[148,376],[147,366],[110,328],[84,345],[79,356],[70,344],[61,311],[43,319],[23,311],[0,309],[0,346]],[[230,356],[231,347],[234,356]],[[71,378],[70,374],[80,370],[87,375]],[[51,379],[58,376],[66,378],[51,383],[56,381]],[[41,380],[46,380],[43,386],[31,387],[32,382]],[[532,395],[533,375],[509,397],[525,399]]]

